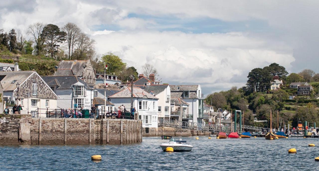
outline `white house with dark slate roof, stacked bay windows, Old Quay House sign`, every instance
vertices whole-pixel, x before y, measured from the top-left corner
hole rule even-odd
[[[91,109],[94,90],[78,76],[42,76],[42,79],[58,96],[57,107]]]

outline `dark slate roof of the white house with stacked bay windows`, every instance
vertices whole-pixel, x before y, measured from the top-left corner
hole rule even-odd
[[[72,85],[81,82],[86,89],[92,89],[86,82],[75,75],[69,76],[42,76],[41,77],[49,86],[57,86],[56,89],[72,89]]]

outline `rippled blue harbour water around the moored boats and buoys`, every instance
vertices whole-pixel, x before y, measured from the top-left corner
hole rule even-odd
[[[163,152],[160,137],[133,145],[0,146],[0,170],[319,170],[317,138],[183,140],[192,151]],[[102,161],[91,161],[94,154]]]

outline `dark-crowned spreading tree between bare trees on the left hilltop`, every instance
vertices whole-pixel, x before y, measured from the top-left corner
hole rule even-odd
[[[65,41],[66,33],[60,31],[60,28],[54,24],[46,25],[42,30],[42,37],[45,37],[45,48],[47,52],[51,55],[51,57],[55,57],[55,53],[57,53],[57,48],[60,46],[59,43]]]

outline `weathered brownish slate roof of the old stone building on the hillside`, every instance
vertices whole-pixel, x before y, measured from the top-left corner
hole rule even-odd
[[[57,70],[72,69],[74,75],[82,76],[83,71],[85,70],[84,66],[87,66],[89,62],[90,60],[61,61]],[[54,73],[55,76],[57,76],[56,73]]]

